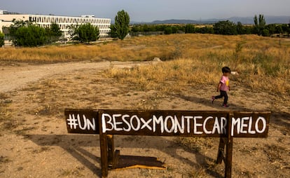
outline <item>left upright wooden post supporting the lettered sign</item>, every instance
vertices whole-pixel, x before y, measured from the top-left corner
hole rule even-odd
[[[99,145],[101,148],[102,177],[108,176],[108,140],[102,130],[102,111],[99,111]]]

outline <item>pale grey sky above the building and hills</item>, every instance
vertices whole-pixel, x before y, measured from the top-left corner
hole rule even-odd
[[[134,22],[289,15],[289,0],[0,0],[0,9],[27,14],[115,18],[125,10]]]

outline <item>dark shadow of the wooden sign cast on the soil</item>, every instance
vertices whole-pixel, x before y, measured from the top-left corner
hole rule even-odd
[[[139,137],[138,140],[142,139],[142,137],[149,138],[149,136],[129,136],[129,137]],[[76,158],[76,160],[81,162],[85,167],[88,167],[88,169],[91,170],[96,176],[98,177],[102,176],[100,167],[96,167],[94,163],[88,160],[88,158],[92,160],[97,160],[97,163],[100,164],[100,157],[95,156],[94,153],[90,153],[89,151],[86,151],[85,149],[81,148],[83,146],[96,146],[97,148],[99,148],[99,136],[96,136],[96,135],[27,135],[27,138],[32,140],[32,142],[34,142],[35,144],[38,144],[39,146],[60,146],[62,149],[67,151],[67,153],[70,153],[71,156],[74,156],[74,158]],[[116,139],[119,139],[119,140],[116,140]],[[180,156],[177,153],[177,149],[181,149],[181,146],[177,145],[177,143],[175,142],[169,141],[168,139],[164,139],[163,137],[154,137],[154,142],[161,143],[161,144],[163,142],[167,142],[167,144],[170,145],[170,146],[159,145],[156,147],[155,146],[144,147],[141,144],[138,144],[138,142],[134,142],[134,141],[136,140],[133,139],[132,144],[122,144],[122,142],[120,142],[120,138],[115,137],[115,142],[118,142],[118,147],[120,147],[121,155],[122,155],[122,148],[159,149],[160,151],[167,153],[167,155],[177,158],[179,160],[182,160],[184,163],[191,165],[192,167],[195,167],[195,168],[205,167],[207,174],[210,174],[212,177],[223,177],[218,172],[214,170],[210,170],[210,168],[207,168],[205,166],[205,163],[207,161],[215,163],[215,160],[213,158],[209,158],[208,156],[203,155],[202,153],[199,153],[196,151],[188,151],[186,149],[186,151],[195,154],[195,158],[198,163],[194,163],[188,158],[184,158],[183,156]],[[146,145],[150,145],[150,144],[146,144]],[[217,153],[217,149],[218,149],[218,145],[216,145],[216,153]],[[87,156],[88,158],[85,158],[85,156]]]

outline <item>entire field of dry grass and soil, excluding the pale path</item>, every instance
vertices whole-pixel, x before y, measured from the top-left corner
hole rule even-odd
[[[105,71],[83,70],[78,65],[0,93],[0,173],[2,177],[96,177],[101,172],[99,137],[68,135],[65,108],[223,110],[222,100],[212,104],[211,97],[221,67],[228,66],[239,73],[230,76],[230,110],[273,111],[267,139],[235,139],[233,177],[289,177],[289,47],[289,40],[254,35],[174,34],[94,45],[2,48],[2,74],[26,66],[27,71],[49,69],[50,64],[39,65],[42,63],[74,61],[71,64],[99,66],[100,62],[88,61],[146,61],[153,57],[163,62],[136,62],[137,67],[123,69],[104,62],[108,64]],[[130,169],[109,174],[222,177],[224,165],[215,164],[218,144],[219,138],[116,137],[116,147],[123,155],[158,156],[167,170]],[[64,159],[69,164],[62,164]]]

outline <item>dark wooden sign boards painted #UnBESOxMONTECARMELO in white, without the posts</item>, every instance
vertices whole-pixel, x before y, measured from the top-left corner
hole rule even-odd
[[[228,119],[232,137],[267,137],[270,112],[66,110],[69,133],[226,137]]]

